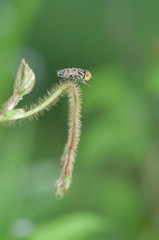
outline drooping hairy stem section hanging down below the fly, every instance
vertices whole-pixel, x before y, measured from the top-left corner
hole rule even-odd
[[[75,87],[75,91],[69,91],[69,130],[68,140],[65,145],[64,153],[61,157],[61,176],[56,181],[55,193],[58,199],[61,199],[65,193],[67,193],[71,178],[73,163],[75,161],[75,155],[80,138],[80,110],[81,99],[80,89]]]

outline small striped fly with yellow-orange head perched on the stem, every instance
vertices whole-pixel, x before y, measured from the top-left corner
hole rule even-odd
[[[59,72],[57,72],[57,76],[63,78],[63,80],[68,80],[68,79],[73,79],[75,81],[82,82],[86,84],[88,87],[89,85],[87,84],[87,81],[92,78],[91,73],[88,70],[83,70],[80,68],[66,68],[62,69]]]

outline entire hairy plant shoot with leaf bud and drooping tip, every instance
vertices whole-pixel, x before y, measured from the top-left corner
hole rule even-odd
[[[37,119],[39,115],[43,115],[45,111],[49,111],[50,108],[57,103],[61,96],[68,95],[69,97],[68,140],[64,148],[64,153],[61,157],[61,175],[55,184],[56,197],[57,199],[61,199],[65,195],[65,193],[68,192],[68,189],[70,187],[73,163],[75,161],[75,155],[77,152],[77,147],[80,138],[81,127],[80,88],[74,82],[70,81],[61,82],[60,84],[53,87],[51,91],[48,91],[47,96],[40,99],[37,104],[31,105],[30,108],[27,109],[14,108],[18,104],[18,102],[22,100],[21,96],[28,94],[32,90],[34,86],[34,81],[35,75],[23,59],[16,76],[13,95],[6,102],[4,109],[0,113],[0,124],[6,126],[15,124],[19,120]],[[14,97],[15,93],[17,93],[16,95],[17,98],[19,97],[18,99]]]

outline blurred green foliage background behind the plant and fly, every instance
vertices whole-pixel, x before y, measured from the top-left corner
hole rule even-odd
[[[89,69],[69,193],[53,185],[68,99],[39,121],[0,127],[0,240],[159,239],[159,1],[0,0],[0,103],[23,57],[36,100],[58,69]]]

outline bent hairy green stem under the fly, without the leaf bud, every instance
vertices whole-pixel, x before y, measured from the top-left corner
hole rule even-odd
[[[44,110],[48,110],[48,108],[56,103],[59,97],[64,93],[68,93],[69,96],[69,131],[68,141],[65,145],[64,154],[61,158],[61,175],[55,184],[55,193],[58,199],[61,199],[69,189],[73,162],[80,137],[81,101],[79,87],[69,81],[61,83],[52,90],[52,93],[48,93],[48,97],[46,97],[43,101],[40,101],[37,106],[31,108],[30,110],[24,111],[22,109],[21,111],[21,109],[13,109],[2,111],[0,114],[0,123],[4,125],[16,122],[17,120],[36,117]]]

